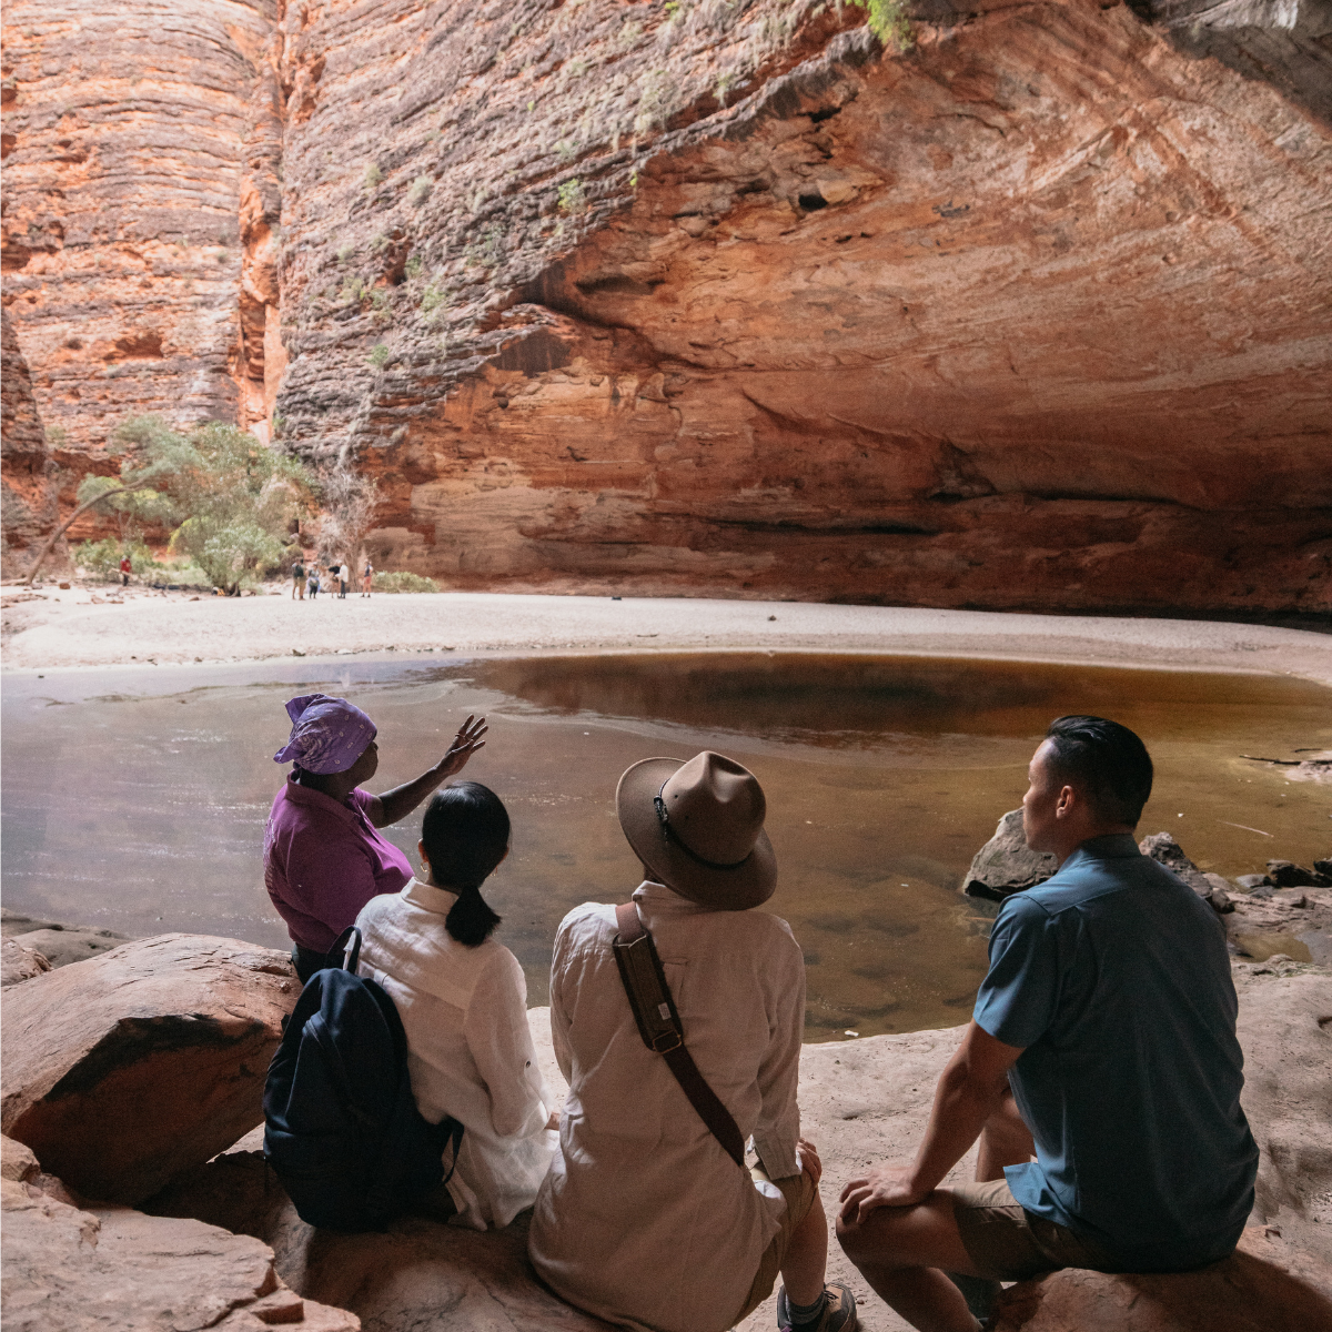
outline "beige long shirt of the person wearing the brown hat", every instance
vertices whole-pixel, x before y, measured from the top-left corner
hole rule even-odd
[[[661,883],[634,900],[699,1071],[769,1175],[798,1173],[805,962],[790,926],[765,911],[707,911]],[[737,1167],[643,1044],[614,938],[615,908],[597,903],[570,911],[555,935],[550,1024],[569,1099],[529,1252],[554,1291],[607,1321],[722,1332],[786,1204]]]

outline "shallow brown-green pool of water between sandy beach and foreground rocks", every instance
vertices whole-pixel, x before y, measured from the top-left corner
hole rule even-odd
[[[1328,691],[1295,679],[818,653],[261,662],[12,677],[5,904],[284,947],[262,888],[272,754],[282,702],[316,690],[377,722],[377,791],[436,762],[468,713],[489,715],[468,777],[513,815],[486,892],[533,1004],[561,916],[638,883],[614,791],[654,754],[715,749],[763,782],[779,864],[767,910],[805,950],[810,1040],[966,1020],[994,908],[956,888],[1062,713],[1143,735],[1156,789],[1139,832],[1168,830],[1204,870],[1332,847],[1327,787],[1240,757],[1332,747]],[[386,835],[416,862],[418,814]]]

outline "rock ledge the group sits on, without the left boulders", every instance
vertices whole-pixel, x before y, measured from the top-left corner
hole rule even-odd
[[[1332,976],[1279,976],[1240,967],[1236,978],[1244,1107],[1261,1151],[1255,1228],[1247,1232],[1243,1253],[1187,1279],[1060,1273],[1023,1283],[1004,1304],[1008,1321],[1000,1325],[1008,1332],[1028,1327],[1031,1332],[1212,1332],[1219,1327],[1284,1332],[1320,1325],[1301,1319],[1320,1315],[1332,1293],[1327,1280],[1332,1271],[1332,1152],[1327,1150]],[[531,1010],[529,1020],[542,1075],[558,1095],[563,1082],[551,1052],[549,1010]],[[924,1131],[935,1083],[963,1030],[805,1047],[802,1126],[823,1158],[826,1205],[866,1166],[910,1159]],[[382,1332],[480,1332],[494,1325],[515,1332],[546,1327],[581,1332],[602,1325],[535,1285],[523,1259],[523,1217],[507,1231],[485,1235],[409,1219],[384,1236],[317,1236],[265,1172],[256,1147],[253,1136],[238,1143],[236,1151],[184,1173],[145,1205],[262,1239],[272,1244],[277,1271],[294,1289],[344,1304]],[[974,1154],[968,1154],[948,1177],[968,1179],[974,1167]],[[829,1276],[856,1291],[867,1328],[904,1332],[906,1324],[866,1288],[831,1236]],[[1124,1317],[1134,1292],[1139,1297],[1132,1316],[1148,1319],[1151,1311],[1164,1311],[1156,1321],[1115,1323]],[[1193,1308],[1209,1313],[1223,1308],[1228,1321],[1187,1321]],[[774,1319],[775,1293],[741,1332],[769,1332]]]

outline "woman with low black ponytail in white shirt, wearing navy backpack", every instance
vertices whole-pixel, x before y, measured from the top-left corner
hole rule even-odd
[[[417,848],[421,876],[357,918],[360,971],[402,1018],[421,1114],[464,1126],[433,1211],[484,1231],[531,1205],[559,1122],[537,1068],[522,967],[492,938],[500,916],[481,895],[509,854],[509,811],[480,782],[448,786],[425,811]]]

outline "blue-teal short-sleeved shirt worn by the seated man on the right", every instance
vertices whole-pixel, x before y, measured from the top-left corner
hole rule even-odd
[[[1036,1160],[1004,1171],[1014,1197],[1119,1271],[1229,1253],[1257,1173],[1236,1011],[1212,907],[1127,834],[1006,898],[975,1020],[1023,1051],[1008,1080]]]

